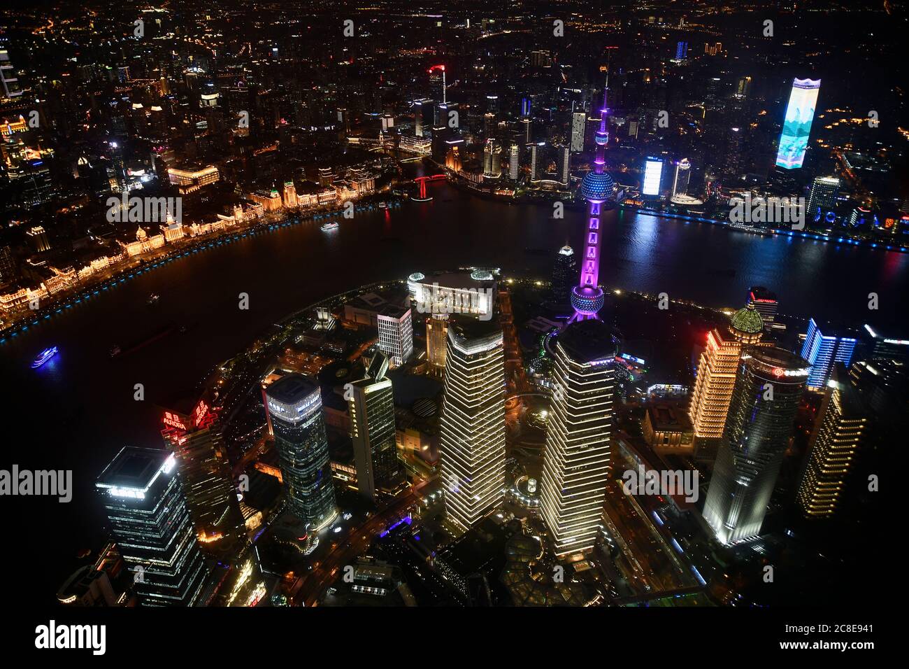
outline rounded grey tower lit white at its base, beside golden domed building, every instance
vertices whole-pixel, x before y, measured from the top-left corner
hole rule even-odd
[[[761,532],[809,369],[784,349],[744,355],[704,502],[704,520],[720,542]]]

